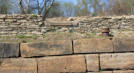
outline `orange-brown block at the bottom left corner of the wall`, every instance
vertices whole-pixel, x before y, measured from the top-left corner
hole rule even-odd
[[[37,73],[37,63],[34,59],[3,59],[0,73]]]

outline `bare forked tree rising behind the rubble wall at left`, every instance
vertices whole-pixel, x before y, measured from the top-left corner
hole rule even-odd
[[[35,4],[32,4],[34,3],[33,1]],[[43,20],[46,19],[51,7],[53,6],[53,3],[54,0],[18,0],[21,13],[27,14],[27,11],[30,8],[33,8],[38,11],[38,14],[43,16]]]

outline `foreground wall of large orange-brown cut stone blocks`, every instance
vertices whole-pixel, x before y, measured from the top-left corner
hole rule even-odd
[[[134,39],[1,42],[0,73],[134,73]]]

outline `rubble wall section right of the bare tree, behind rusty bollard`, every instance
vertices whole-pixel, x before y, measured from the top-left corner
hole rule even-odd
[[[134,28],[134,16],[100,16],[100,17],[70,17],[50,18],[48,22],[56,31],[67,32],[100,32],[102,27],[112,30],[129,30]],[[62,28],[61,28],[62,27]]]

